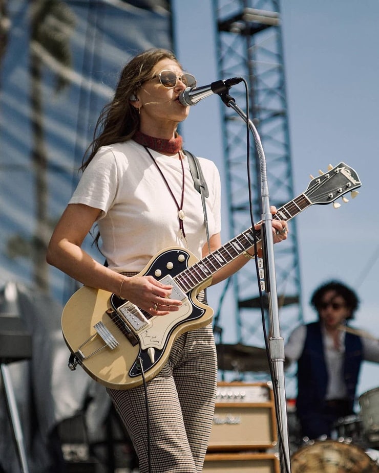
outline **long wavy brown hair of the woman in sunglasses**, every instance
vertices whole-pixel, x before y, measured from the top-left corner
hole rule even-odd
[[[180,66],[172,51],[156,48],[134,56],[125,64],[113,100],[103,107],[97,120],[94,139],[83,156],[80,167],[82,171],[86,169],[101,146],[127,141],[133,137],[139,128],[139,113],[131,105],[130,98],[151,78],[153,67],[162,59],[172,59]]]

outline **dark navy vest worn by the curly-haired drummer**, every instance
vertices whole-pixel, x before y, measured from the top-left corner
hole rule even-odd
[[[324,358],[323,340],[320,322],[306,326],[307,334],[303,353],[298,361],[298,414],[323,408],[328,373]],[[345,335],[344,379],[351,408],[363,359],[362,341],[352,333]]]

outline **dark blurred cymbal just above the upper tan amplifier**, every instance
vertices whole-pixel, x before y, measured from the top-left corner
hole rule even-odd
[[[216,345],[218,368],[223,371],[269,371],[265,348],[237,343]]]

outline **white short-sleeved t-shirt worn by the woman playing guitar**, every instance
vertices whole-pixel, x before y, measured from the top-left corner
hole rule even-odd
[[[150,152],[180,205],[180,160]],[[212,161],[200,158],[200,164],[209,189],[206,208],[212,236],[221,231],[220,176]],[[201,196],[194,187],[187,157],[183,165],[183,227],[189,251],[200,259],[206,243]],[[97,221],[101,251],[109,267],[118,272],[140,272],[159,251],[186,247],[175,201],[148,152],[133,140],[101,147],[83,172],[69,204],[101,210]]]

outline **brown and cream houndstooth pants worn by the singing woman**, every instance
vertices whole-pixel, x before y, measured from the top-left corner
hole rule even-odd
[[[107,389],[132,439],[140,473],[202,471],[213,423],[216,387],[217,356],[209,324],[180,335],[163,369],[147,383],[150,438],[143,386]]]

